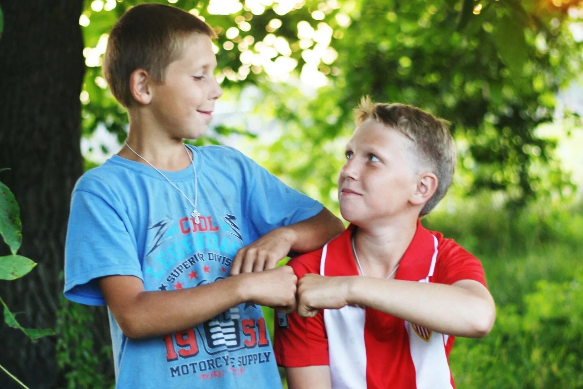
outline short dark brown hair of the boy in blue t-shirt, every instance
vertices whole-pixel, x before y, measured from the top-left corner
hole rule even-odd
[[[129,76],[136,69],[164,82],[167,66],[182,54],[181,39],[193,33],[216,38],[208,24],[173,6],[146,3],[124,13],[111,30],[102,67],[115,99],[129,107]]]

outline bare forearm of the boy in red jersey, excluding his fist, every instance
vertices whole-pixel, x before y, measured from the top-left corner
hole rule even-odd
[[[494,302],[484,292],[439,283],[350,277],[349,304],[360,304],[440,332],[483,337],[494,321]],[[467,282],[467,281],[464,281]]]

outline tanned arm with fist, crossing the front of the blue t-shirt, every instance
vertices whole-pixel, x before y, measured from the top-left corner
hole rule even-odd
[[[285,266],[164,292],[146,292],[134,276],[107,276],[99,279],[99,286],[124,334],[142,338],[193,327],[243,302],[295,306],[296,281]]]

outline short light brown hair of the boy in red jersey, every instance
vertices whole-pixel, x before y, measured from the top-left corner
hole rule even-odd
[[[438,186],[433,197],[426,202],[419,216],[425,216],[445,196],[454,177],[455,142],[449,133],[449,122],[417,107],[405,104],[373,103],[364,96],[354,110],[357,125],[368,118],[395,129],[415,145],[416,155],[437,176]]]

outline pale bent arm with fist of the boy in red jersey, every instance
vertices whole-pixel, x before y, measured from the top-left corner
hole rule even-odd
[[[487,335],[496,316],[490,292],[468,279],[444,285],[308,274],[298,282],[298,296],[300,316],[313,317],[321,309],[360,304],[429,330],[468,338]]]

